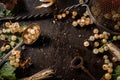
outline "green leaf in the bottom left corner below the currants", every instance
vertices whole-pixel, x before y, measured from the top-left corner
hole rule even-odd
[[[14,73],[15,70],[15,67],[11,66],[8,62],[6,62],[0,69],[0,76],[8,80],[16,80],[16,76]]]

